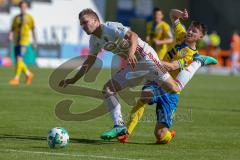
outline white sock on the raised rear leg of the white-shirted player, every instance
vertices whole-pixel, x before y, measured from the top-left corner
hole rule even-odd
[[[186,86],[186,84],[192,79],[196,71],[201,67],[200,61],[193,61],[187,68],[181,70],[178,74],[176,81],[179,84],[181,90]]]

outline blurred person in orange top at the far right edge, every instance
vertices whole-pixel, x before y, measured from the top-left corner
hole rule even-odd
[[[231,59],[232,59],[232,74],[237,74],[238,73],[238,68],[239,68],[239,54],[240,54],[240,36],[235,31],[232,35],[231,38]]]

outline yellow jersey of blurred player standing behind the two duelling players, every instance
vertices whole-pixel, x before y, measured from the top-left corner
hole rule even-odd
[[[156,45],[154,43],[154,39],[164,40],[167,38],[171,38],[172,33],[170,26],[164,21],[161,21],[159,23],[150,21],[147,23],[146,34],[147,37],[149,37],[147,43],[153,47],[153,49],[157,52],[159,58],[162,60],[165,54],[167,53],[168,45],[167,44]]]

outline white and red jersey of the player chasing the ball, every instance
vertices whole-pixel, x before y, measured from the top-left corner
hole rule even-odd
[[[121,57],[128,57],[128,50],[131,46],[129,40],[124,39],[126,33],[130,30],[128,27],[123,26],[118,22],[106,22],[101,24],[102,34],[98,38],[91,35],[89,41],[90,54],[97,54],[102,49],[118,54]],[[151,54],[154,58],[158,59],[157,54],[152,52],[152,47],[146,42],[138,38],[137,51],[140,52],[145,60],[150,60],[147,54]]]

